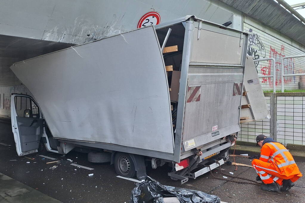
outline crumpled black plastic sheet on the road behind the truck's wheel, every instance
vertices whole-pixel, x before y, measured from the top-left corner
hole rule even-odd
[[[220,198],[201,191],[162,185],[146,176],[131,194],[131,203],[164,203],[163,198],[177,197],[181,203],[220,203]]]

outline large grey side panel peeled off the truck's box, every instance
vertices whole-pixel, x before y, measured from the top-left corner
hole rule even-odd
[[[11,66],[53,137],[174,153],[166,70],[154,27]]]

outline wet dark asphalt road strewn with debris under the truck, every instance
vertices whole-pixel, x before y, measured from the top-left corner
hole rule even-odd
[[[46,153],[46,156],[61,160],[58,163],[39,157],[38,153],[27,155],[34,158],[29,160],[16,155],[15,143],[12,129],[8,122],[0,121],[0,143],[12,146],[0,145],[0,172],[20,181],[31,188],[51,196],[62,202],[128,202],[131,191],[135,187],[132,181],[116,177],[113,165],[109,163],[95,164],[87,161],[86,153],[72,151],[65,157],[60,154]],[[76,158],[77,157],[77,158]],[[10,161],[16,159],[17,161]],[[73,160],[70,162],[67,159]],[[30,163],[27,163],[30,162]],[[36,163],[34,163],[36,162]],[[236,162],[251,164],[246,158],[236,157]],[[71,163],[94,168],[87,170],[77,168]],[[301,172],[305,173],[305,158],[303,162],[297,162]],[[55,169],[49,169],[58,166]],[[238,177],[255,179],[253,168],[223,165],[225,172],[234,172]],[[77,169],[77,170],[74,170]],[[200,190],[205,193],[214,194],[225,202],[305,202],[305,188],[293,187],[289,192],[274,193],[260,190],[259,186],[252,184],[238,184],[228,180],[217,180],[208,174],[198,177],[196,180],[190,179],[183,185],[179,181],[173,181],[167,176],[170,168],[167,166],[157,169],[148,169],[147,174],[160,181],[161,184]],[[93,173],[93,176],[88,174]],[[221,177],[220,170],[213,170],[216,177]],[[240,179],[234,179],[239,180]],[[305,178],[301,177],[296,185],[305,186]]]

